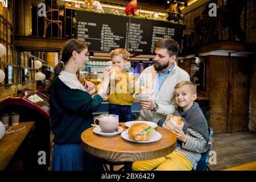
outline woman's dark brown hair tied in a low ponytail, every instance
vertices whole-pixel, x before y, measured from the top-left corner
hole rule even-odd
[[[67,64],[69,59],[72,57],[73,51],[80,53],[81,51],[83,51],[86,48],[87,48],[87,44],[85,42],[82,42],[79,39],[70,39],[64,44],[62,51],[61,51],[62,52],[61,53],[61,62],[56,64],[53,69],[51,78],[49,78],[48,89],[51,86],[51,82],[52,82],[53,78],[58,76],[60,74],[60,72],[63,71],[65,64]]]

